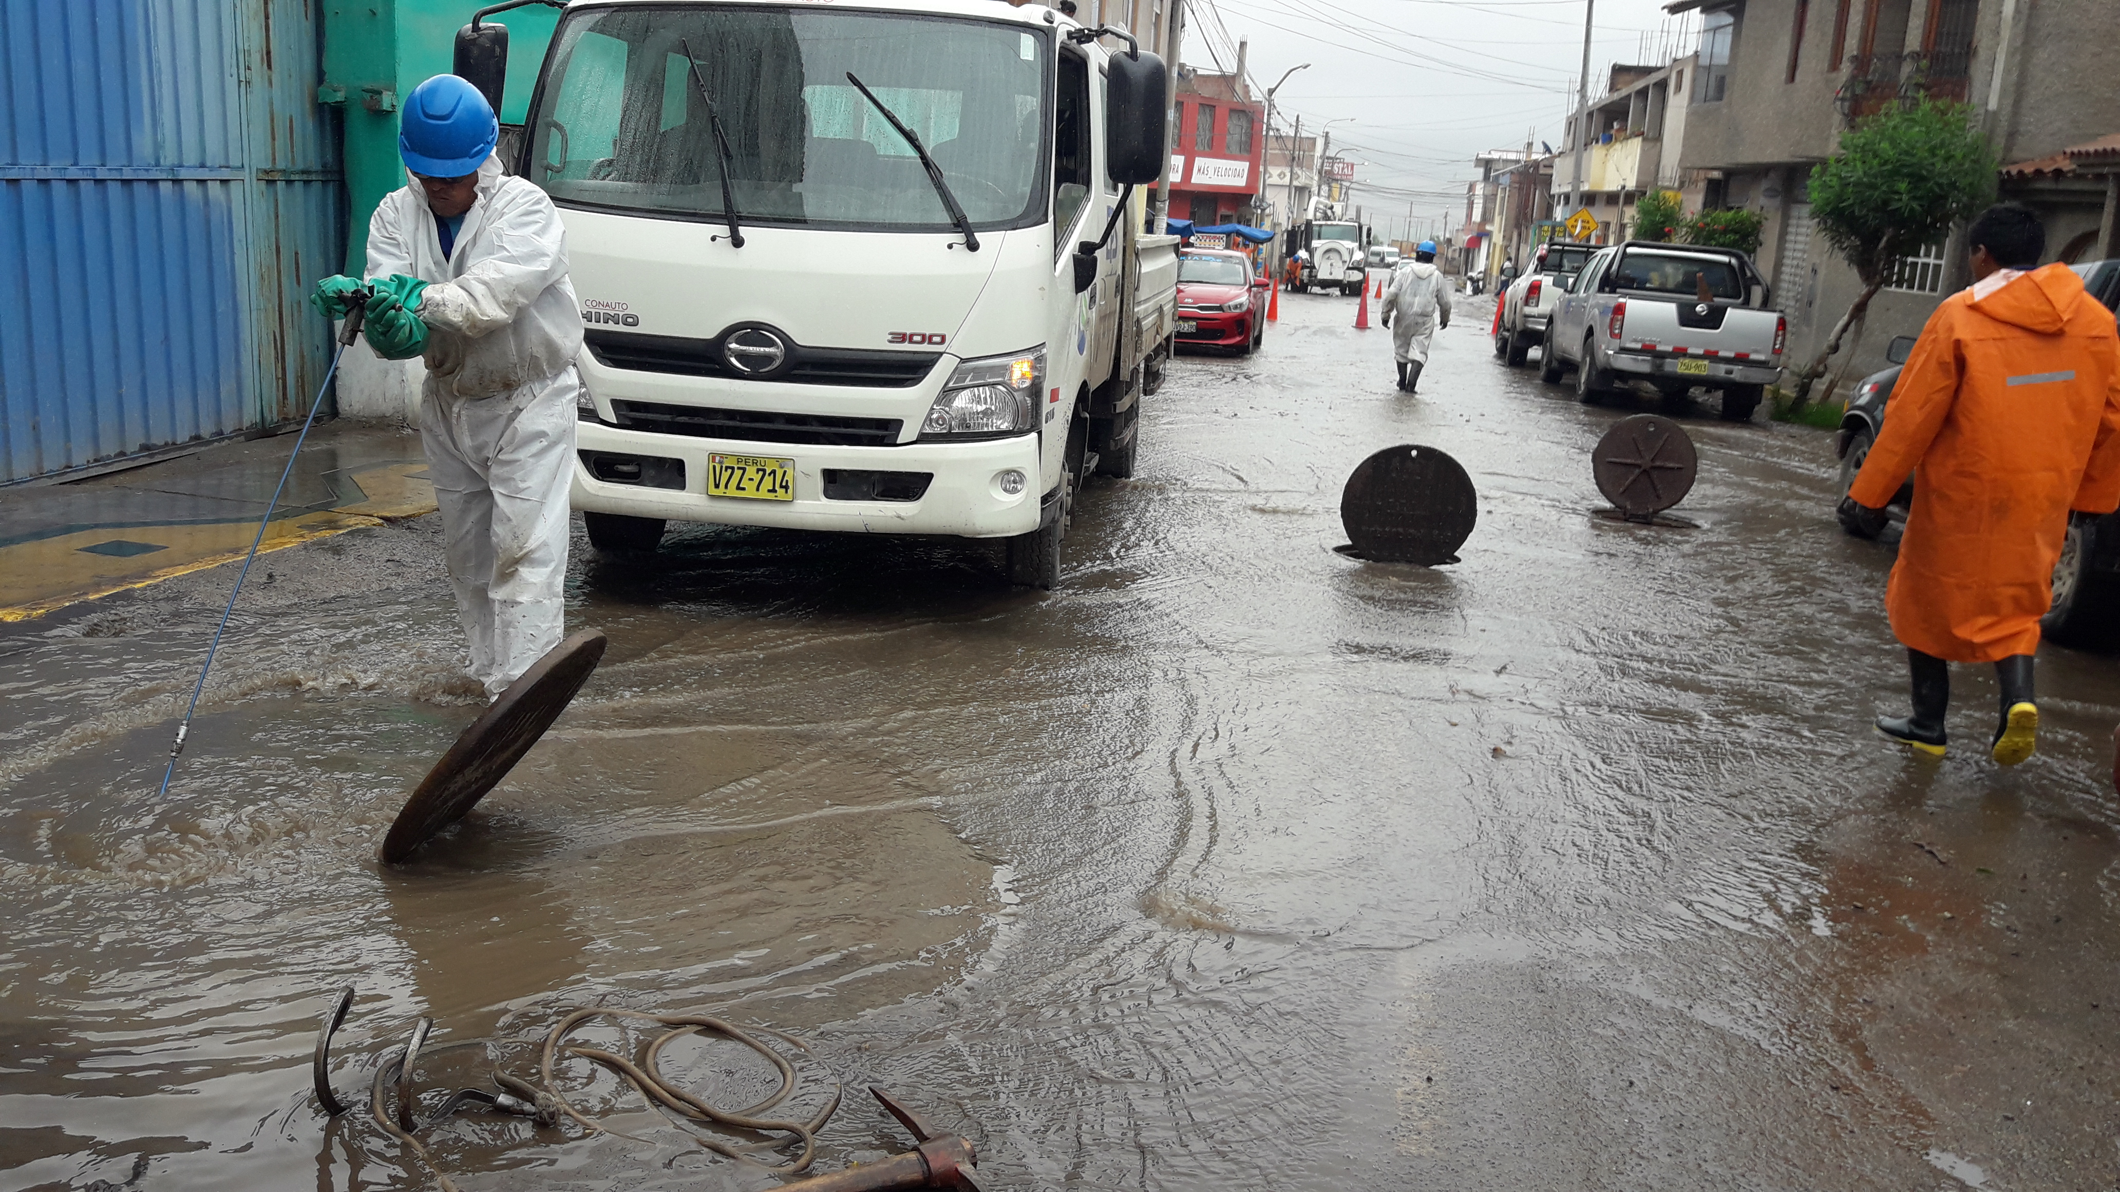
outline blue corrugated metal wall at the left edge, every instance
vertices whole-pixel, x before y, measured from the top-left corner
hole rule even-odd
[[[0,2],[0,484],[282,422],[343,187],[316,0]]]

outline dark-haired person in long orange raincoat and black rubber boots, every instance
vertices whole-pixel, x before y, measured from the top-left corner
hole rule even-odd
[[[1948,664],[1993,662],[1991,753],[2016,766],[2037,742],[2031,655],[2069,511],[2120,505],[2120,337],[2075,271],[2035,269],[2046,229],[2027,208],[1989,208],[1967,242],[1976,280],[1921,329],[1847,501],[1876,518],[1914,473],[1885,594],[1914,713],[1878,732],[1942,755]]]

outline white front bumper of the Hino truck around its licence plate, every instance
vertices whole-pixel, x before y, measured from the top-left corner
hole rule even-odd
[[[827,448],[808,443],[757,443],[744,439],[693,439],[689,435],[657,435],[628,431],[600,422],[581,422],[575,435],[575,509],[589,513],[625,513],[632,518],[664,518],[676,522],[717,522],[725,526],[778,526],[787,530],[837,530],[850,534],[954,534],[965,539],[999,539],[1039,528],[1039,437],[986,439],[977,443],[905,443],[893,448]],[[770,456],[795,460],[793,501],[755,501],[744,496],[708,496],[706,467],[710,454]],[[611,456],[676,460],[642,469],[613,469]],[[657,477],[681,488],[657,488],[653,481],[598,479],[585,460],[596,460],[608,475],[628,473]],[[825,473],[833,473],[827,477]],[[1001,477],[1018,471],[1022,490],[1007,494]],[[859,492],[865,477],[846,473],[926,475],[916,501],[842,501],[827,496],[827,479],[835,492]],[[918,481],[897,479],[886,488],[905,492]]]

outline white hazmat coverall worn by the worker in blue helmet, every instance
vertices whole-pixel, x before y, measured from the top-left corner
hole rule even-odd
[[[369,278],[428,282],[420,439],[447,539],[471,677],[488,698],[560,645],[581,310],[545,191],[479,165],[477,199],[441,257],[420,182],[369,221]]]

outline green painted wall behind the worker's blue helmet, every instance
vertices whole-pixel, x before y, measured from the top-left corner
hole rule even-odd
[[[369,216],[405,185],[396,112],[405,93],[449,70],[456,30],[490,0],[324,0],[324,85],[318,102],[346,112],[346,271],[358,276],[369,250]],[[522,123],[545,45],[560,19],[532,4],[498,17],[509,28],[509,85],[500,121]]]

